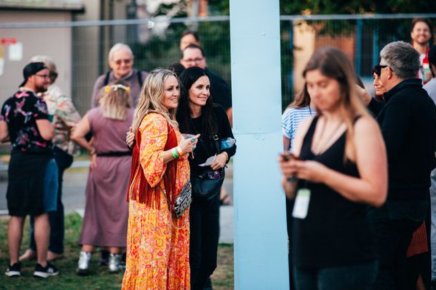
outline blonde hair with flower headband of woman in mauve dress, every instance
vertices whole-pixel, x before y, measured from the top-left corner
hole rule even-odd
[[[124,87],[124,88],[123,88]],[[100,90],[100,107],[103,110],[103,117],[125,121],[129,103],[129,87],[122,80],[113,81]]]

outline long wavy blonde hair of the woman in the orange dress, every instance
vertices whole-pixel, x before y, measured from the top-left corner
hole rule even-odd
[[[171,126],[179,128],[179,124],[176,122],[176,108],[168,110],[162,104],[165,93],[165,81],[170,76],[174,76],[177,79],[176,74],[166,68],[156,68],[149,72],[143,88],[140,90],[138,106],[136,106],[133,124],[131,125],[134,132],[138,130],[140,122],[143,121],[148,113],[161,114]]]

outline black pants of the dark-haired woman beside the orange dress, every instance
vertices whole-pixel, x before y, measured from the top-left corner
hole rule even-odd
[[[219,191],[218,191],[219,192]],[[201,290],[217,268],[219,194],[211,200],[192,198],[190,207],[191,289]]]

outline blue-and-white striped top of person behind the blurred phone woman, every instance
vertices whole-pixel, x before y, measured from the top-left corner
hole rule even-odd
[[[282,115],[282,132],[283,136],[291,140],[291,147],[293,148],[293,142],[297,133],[298,126],[303,119],[315,115],[316,110],[305,106],[303,108],[287,108]],[[288,148],[289,149],[289,148]]]

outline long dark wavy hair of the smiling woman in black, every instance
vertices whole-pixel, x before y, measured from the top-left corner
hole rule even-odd
[[[200,77],[209,77],[206,70],[199,68],[198,66],[192,66],[186,68],[180,75],[181,82],[181,94],[179,107],[177,108],[176,120],[179,122],[181,133],[192,132],[193,128],[190,128],[190,119],[192,110],[189,107],[189,90],[192,84],[196,82]],[[206,104],[201,108],[201,116],[203,116],[203,121],[201,122],[201,135],[203,138],[210,135],[217,134],[217,122],[215,113],[213,110],[212,95],[208,97]]]

